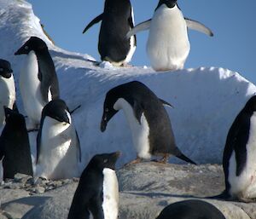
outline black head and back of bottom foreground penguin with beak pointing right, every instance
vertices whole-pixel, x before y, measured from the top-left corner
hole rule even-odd
[[[73,202],[68,213],[68,219],[104,219],[103,201],[103,170],[114,170],[119,153],[97,154],[90,159],[84,169],[79,186],[74,193]]]

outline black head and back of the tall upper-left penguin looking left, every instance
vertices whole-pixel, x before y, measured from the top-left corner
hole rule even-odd
[[[59,98],[60,91],[55,65],[44,40],[39,37],[30,37],[15,52],[15,55],[28,55],[31,51],[34,51],[38,58],[38,79],[41,81],[40,89],[43,100],[48,102],[49,90],[52,100]]]

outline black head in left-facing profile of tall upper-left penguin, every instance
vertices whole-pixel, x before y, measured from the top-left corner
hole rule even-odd
[[[38,37],[30,37],[26,43],[24,43],[20,49],[15,52],[15,55],[29,54],[31,51],[43,51],[48,50],[44,40]]]

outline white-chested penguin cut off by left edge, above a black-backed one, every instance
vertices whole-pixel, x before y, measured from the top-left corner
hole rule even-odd
[[[13,108],[15,104],[15,79],[9,61],[0,59],[0,126],[5,123],[3,107]]]

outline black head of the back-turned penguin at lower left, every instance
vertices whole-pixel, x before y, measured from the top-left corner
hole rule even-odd
[[[5,126],[13,127],[15,130],[20,130],[20,127],[26,127],[25,118],[17,110],[12,110],[9,107],[3,107],[5,114]]]

